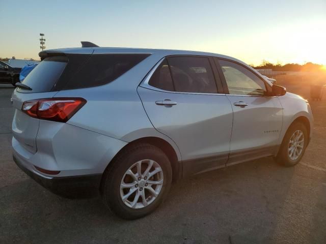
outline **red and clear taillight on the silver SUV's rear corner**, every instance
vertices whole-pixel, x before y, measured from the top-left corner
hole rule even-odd
[[[25,101],[21,110],[34,118],[66,122],[85,103],[83,98],[46,98]]]

